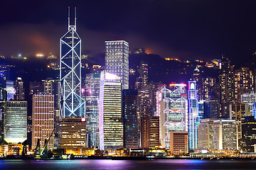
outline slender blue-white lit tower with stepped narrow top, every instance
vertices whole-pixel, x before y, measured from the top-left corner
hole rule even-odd
[[[188,146],[189,149],[197,149],[198,145],[198,98],[196,81],[188,81]]]

